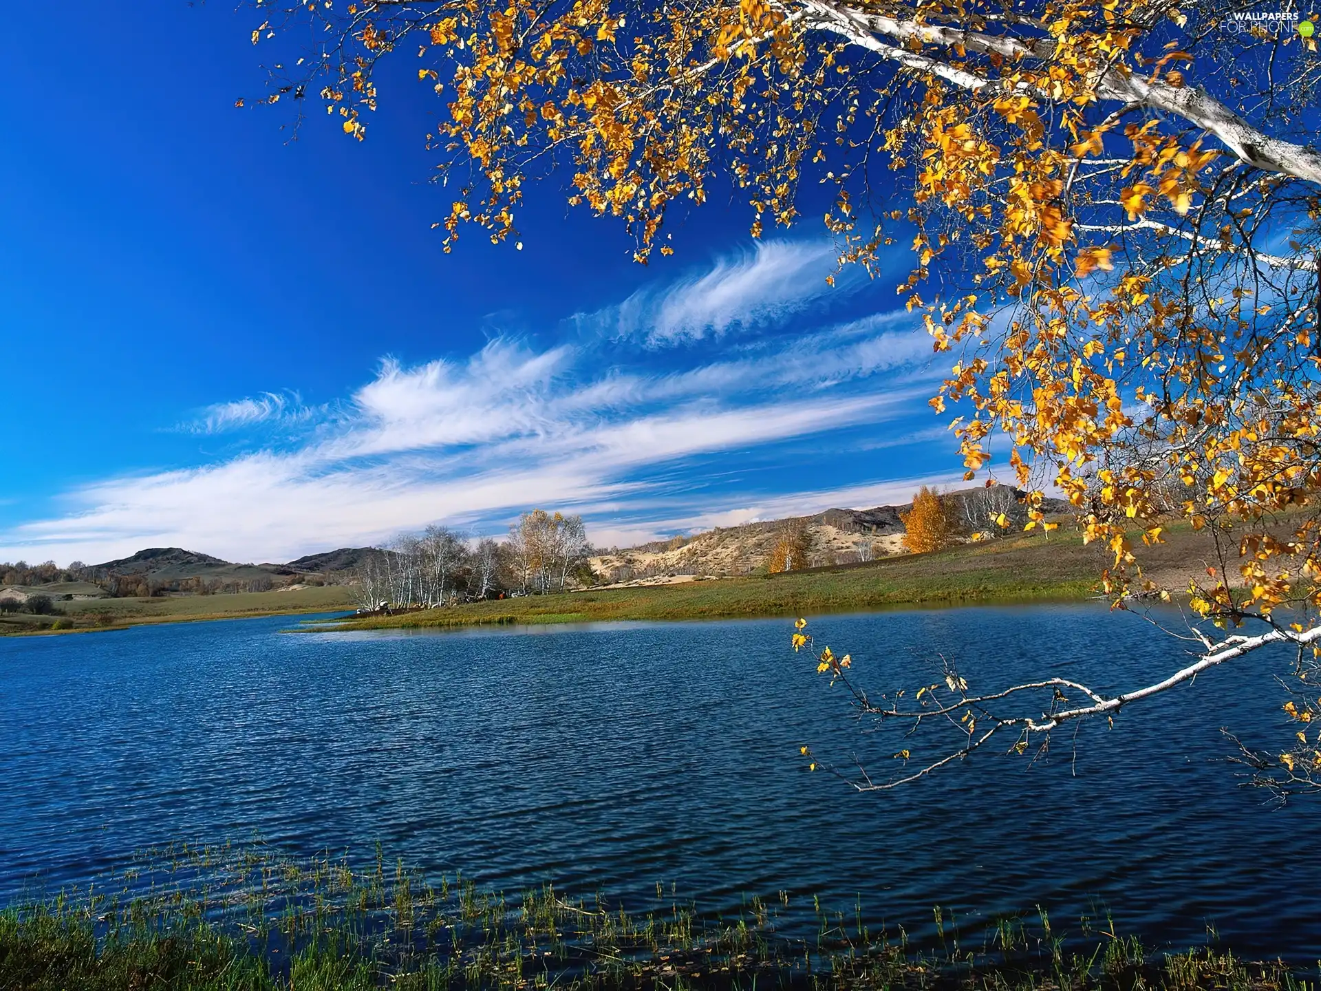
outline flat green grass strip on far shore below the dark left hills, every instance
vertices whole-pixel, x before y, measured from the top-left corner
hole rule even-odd
[[[123,629],[151,622],[231,620],[250,616],[351,609],[351,589],[343,585],[299,588],[289,592],[239,592],[214,596],[162,596],[156,599],[79,599],[57,601],[61,616],[0,614],[3,633],[62,633]],[[55,622],[66,629],[52,630]]]

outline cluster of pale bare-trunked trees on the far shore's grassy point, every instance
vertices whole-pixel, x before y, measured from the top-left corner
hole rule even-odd
[[[355,569],[363,609],[431,608],[501,595],[544,595],[589,584],[592,547],[579,515],[524,513],[509,538],[473,539],[432,525],[375,547]]]

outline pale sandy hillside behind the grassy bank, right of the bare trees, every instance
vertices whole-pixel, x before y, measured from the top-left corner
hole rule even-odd
[[[1021,493],[992,486],[1005,502],[1017,503]],[[982,519],[985,489],[948,493],[954,513],[972,532]],[[1067,503],[1048,499],[1048,513],[1067,510]],[[789,517],[737,527],[708,530],[692,536],[612,550],[592,558],[592,569],[605,581],[653,584],[692,577],[748,575],[766,567],[779,535],[802,529],[808,539],[808,567],[848,564],[902,554],[904,522],[911,503],[873,509],[828,509],[814,517]]]

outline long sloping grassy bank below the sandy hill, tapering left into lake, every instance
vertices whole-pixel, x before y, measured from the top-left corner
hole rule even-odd
[[[588,589],[362,617],[337,629],[556,624],[608,620],[715,620],[852,612],[894,605],[1078,600],[1102,568],[1077,536],[1020,538],[867,564],[712,579],[642,588]]]

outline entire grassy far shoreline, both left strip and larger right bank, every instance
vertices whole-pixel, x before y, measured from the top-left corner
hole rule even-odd
[[[1166,542],[1145,548],[1147,573],[1170,588],[1182,573],[1201,571],[1205,535],[1172,526]],[[343,617],[317,630],[445,629],[483,625],[546,625],[618,620],[774,618],[896,606],[956,606],[1081,601],[1099,595],[1107,554],[1074,532],[1050,538],[1024,534],[931,554],[882,558],[861,564],[811,568],[783,575],[704,579],[670,585],[587,588],[395,616]],[[1192,569],[1192,571],[1189,571]],[[170,599],[61,603],[71,629],[52,629],[62,617],[0,617],[0,636],[81,633],[157,622],[196,622],[259,616],[304,616],[351,610],[346,587]]]

